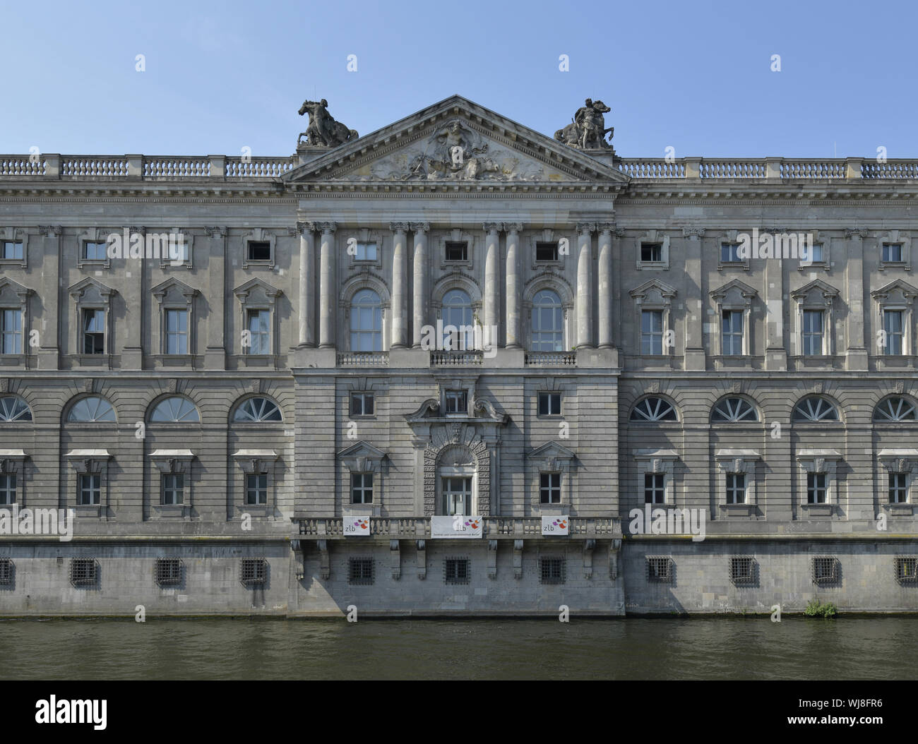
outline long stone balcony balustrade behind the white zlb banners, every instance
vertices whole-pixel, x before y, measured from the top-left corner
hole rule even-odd
[[[299,534],[315,538],[344,538],[343,520],[337,517],[295,517]],[[541,516],[486,516],[483,536],[489,539],[542,538]],[[431,537],[427,517],[371,517],[370,534],[392,539]],[[621,538],[621,521],[611,516],[573,516],[570,536]],[[350,538],[349,538],[350,539]]]

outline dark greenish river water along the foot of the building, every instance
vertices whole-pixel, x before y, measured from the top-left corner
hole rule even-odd
[[[918,617],[6,620],[0,678],[903,680]]]

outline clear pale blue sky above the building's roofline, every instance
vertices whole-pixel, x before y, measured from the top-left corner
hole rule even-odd
[[[305,98],[366,134],[458,93],[549,136],[599,98],[624,157],[918,157],[916,7],[6,0],[0,151],[288,155]]]

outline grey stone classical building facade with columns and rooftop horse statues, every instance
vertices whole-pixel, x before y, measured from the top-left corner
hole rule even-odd
[[[301,111],[0,156],[0,615],[918,609],[918,161]]]

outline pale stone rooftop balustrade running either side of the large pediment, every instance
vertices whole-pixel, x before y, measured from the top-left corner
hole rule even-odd
[[[0,178],[106,178],[179,181],[277,179],[297,167],[297,156],[228,155],[0,155]],[[641,181],[674,179],[837,180],[918,179],[918,159],[870,158],[625,158],[620,170]]]

